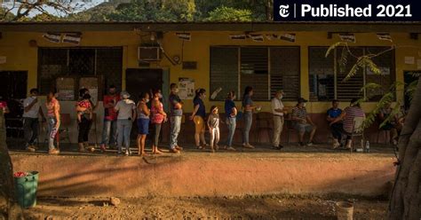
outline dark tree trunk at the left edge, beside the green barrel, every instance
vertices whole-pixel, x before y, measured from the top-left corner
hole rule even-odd
[[[2,109],[0,109],[0,219],[23,219],[22,210],[16,204],[14,197],[13,166],[6,145]]]

